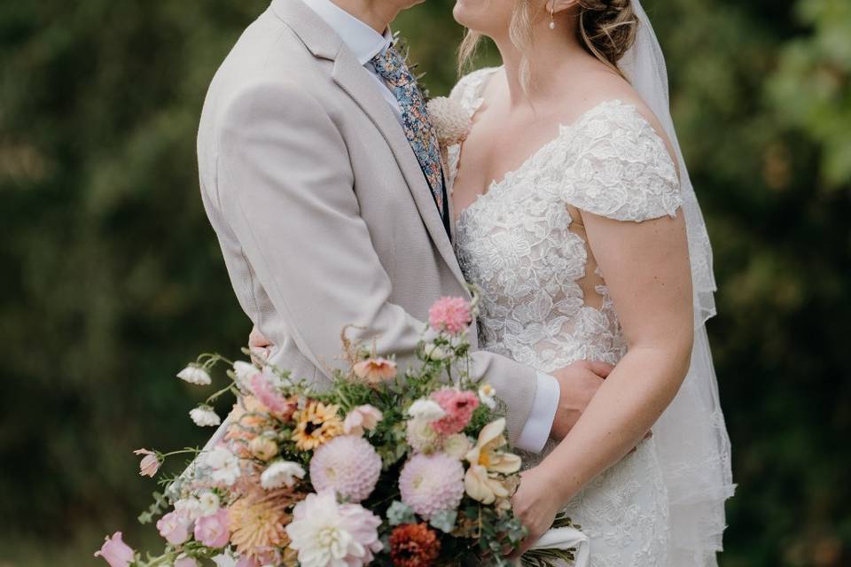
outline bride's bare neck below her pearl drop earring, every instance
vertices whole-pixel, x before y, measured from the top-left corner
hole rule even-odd
[[[558,96],[563,84],[561,71],[589,57],[576,38],[575,20],[571,16],[557,16],[554,29],[550,29],[549,23],[550,19],[546,18],[532,24],[532,41],[522,52],[507,35],[493,38],[503,59],[512,106],[534,105],[535,100]]]

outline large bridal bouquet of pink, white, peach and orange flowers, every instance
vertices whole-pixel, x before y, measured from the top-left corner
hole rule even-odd
[[[139,517],[159,517],[164,551],[143,557],[116,532],[95,555],[112,567],[509,564],[504,554],[525,534],[509,501],[520,458],[505,438],[504,404],[468,376],[475,304],[437,301],[418,368],[403,374],[344,330],[348,370],[327,390],[262,361],[201,355],[177,376],[207,385],[224,366],[229,379],[191,419],[219,425],[210,404],[227,392],[237,399],[214,440],[203,451],[136,451],[150,477],[169,456],[195,457],[162,478],[163,493]]]

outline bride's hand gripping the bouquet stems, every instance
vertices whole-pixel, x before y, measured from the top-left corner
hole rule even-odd
[[[559,498],[553,497],[553,488],[558,478],[542,465],[521,473],[520,485],[511,497],[511,509],[528,530],[520,548],[511,555],[517,558],[550,529],[558,510],[564,505]]]

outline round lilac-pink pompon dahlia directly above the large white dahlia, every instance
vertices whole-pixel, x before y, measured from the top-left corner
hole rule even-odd
[[[354,502],[372,493],[380,474],[381,457],[369,441],[355,435],[331,439],[310,460],[310,480],[317,492],[332,488]]]

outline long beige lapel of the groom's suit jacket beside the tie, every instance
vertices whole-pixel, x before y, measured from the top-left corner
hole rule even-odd
[[[464,275],[458,266],[455,251],[446,234],[441,214],[434,204],[426,176],[419,167],[417,156],[410,149],[402,126],[379,94],[367,71],[342,43],[340,37],[301,0],[274,0],[272,10],[299,35],[301,41],[316,57],[334,62],[332,79],[355,101],[363,113],[370,117],[384,136],[402,175],[408,182],[408,189],[434,245],[458,281],[464,283]]]

